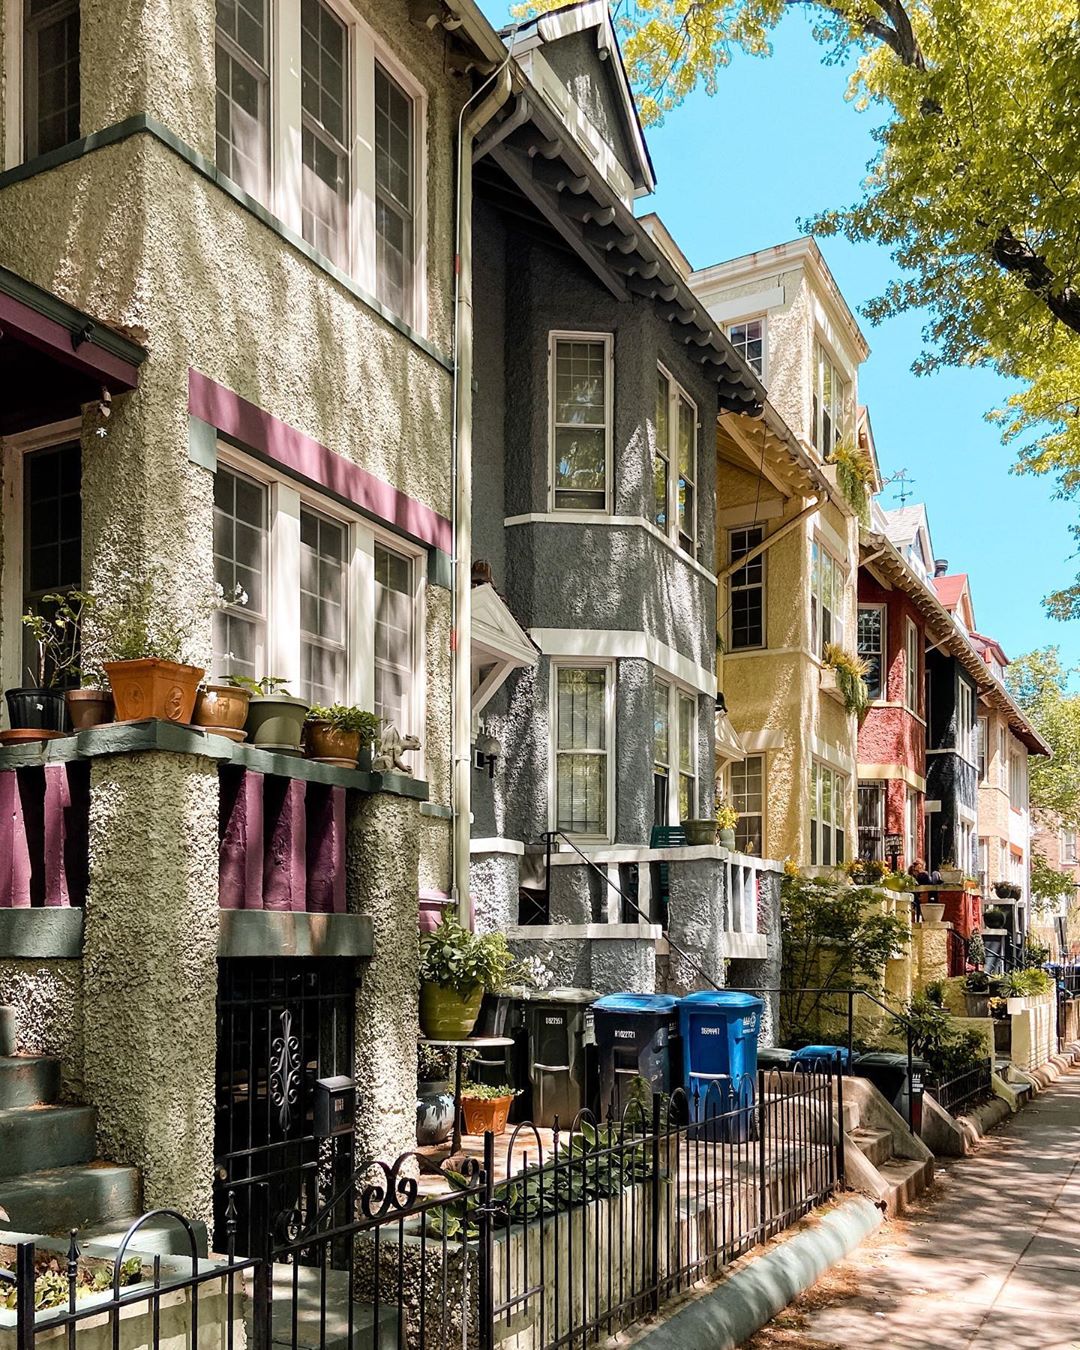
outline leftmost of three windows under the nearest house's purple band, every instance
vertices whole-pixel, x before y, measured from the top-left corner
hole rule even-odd
[[[262,483],[220,467],[213,478],[213,579],[247,603],[213,616],[213,668],[259,680],[267,674],[267,491]]]

